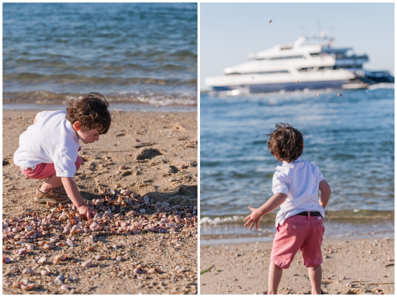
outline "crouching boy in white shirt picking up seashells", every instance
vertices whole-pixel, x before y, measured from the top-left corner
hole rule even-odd
[[[79,100],[70,100],[66,111],[36,114],[33,125],[19,136],[19,148],[14,153],[14,163],[25,176],[46,179],[34,201],[59,204],[71,199],[81,218],[94,215],[78,192],[73,176],[83,161],[78,156],[79,140],[93,143],[108,132],[112,122],[108,107],[102,94],[89,93]]]

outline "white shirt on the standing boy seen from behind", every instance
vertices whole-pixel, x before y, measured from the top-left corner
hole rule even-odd
[[[275,169],[271,190],[274,194],[288,196],[277,212],[276,227],[282,225],[286,218],[302,211],[319,211],[325,217],[318,197],[319,184],[324,179],[319,167],[299,157],[294,162],[283,162]]]

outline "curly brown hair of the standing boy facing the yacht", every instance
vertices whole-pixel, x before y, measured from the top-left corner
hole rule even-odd
[[[266,136],[267,148],[277,160],[293,162],[303,152],[303,135],[290,124],[276,124],[276,129]]]

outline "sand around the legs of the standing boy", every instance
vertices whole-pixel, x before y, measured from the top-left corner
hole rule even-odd
[[[271,247],[271,242],[201,246],[200,294],[263,294]],[[394,294],[394,239],[325,240],[322,248],[325,294]],[[307,294],[310,289],[298,251],[283,270],[277,294]]]

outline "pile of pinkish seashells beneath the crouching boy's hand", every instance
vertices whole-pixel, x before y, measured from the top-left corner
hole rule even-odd
[[[130,190],[117,191],[114,188],[105,190],[101,196],[103,198],[88,201],[87,204],[96,211],[96,214],[92,219],[85,221],[81,220],[74,204],[60,204],[54,207],[51,202],[47,202],[49,207],[53,207],[48,215],[29,212],[4,220],[3,250],[14,249],[13,254],[16,257],[23,257],[36,245],[47,250],[53,249],[54,246],[63,247],[65,244],[75,247],[74,236],[79,234],[88,236],[84,240],[84,243],[88,244],[96,240],[95,235],[137,235],[147,232],[197,234],[197,205],[171,206],[170,203],[156,202],[147,196],[140,197]],[[115,213],[116,210],[118,210],[117,213]],[[154,213],[148,215],[146,212]],[[46,237],[50,237],[48,241],[45,240]],[[66,238],[66,241],[62,241],[61,238]],[[92,250],[93,247],[86,247],[86,251]],[[103,255],[95,257],[96,260],[105,258],[106,256]],[[3,257],[3,263],[10,263],[13,260],[15,258]],[[58,255],[52,264],[57,265],[65,260],[65,254]],[[116,260],[124,261],[125,259],[118,256]],[[46,257],[40,258],[37,262],[51,264]],[[81,265],[89,267],[91,264],[92,261],[88,260]],[[25,270],[22,274],[32,273]],[[42,275],[48,273],[46,269],[41,271]],[[3,284],[23,290],[31,290],[34,287],[29,280],[23,280],[20,283],[5,280]]]

